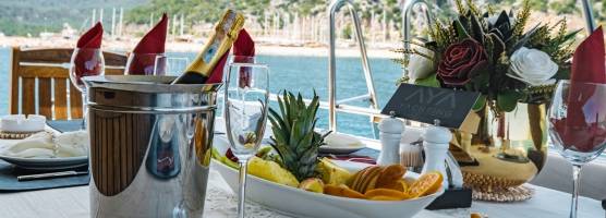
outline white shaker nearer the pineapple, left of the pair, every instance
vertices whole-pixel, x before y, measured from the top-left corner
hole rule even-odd
[[[400,141],[404,124],[401,120],[396,119],[393,111],[389,113],[391,117],[383,119],[378,125],[380,138],[380,154],[377,165],[399,165],[400,164]]]

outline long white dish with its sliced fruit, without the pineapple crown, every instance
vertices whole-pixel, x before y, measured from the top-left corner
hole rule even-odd
[[[211,167],[237,193],[238,164],[228,157],[227,143],[216,137]],[[444,193],[439,173],[419,175],[399,165],[379,167],[328,158],[319,159],[317,177],[299,182],[272,160],[270,148],[260,148],[249,161],[246,197],[295,217],[412,217]]]

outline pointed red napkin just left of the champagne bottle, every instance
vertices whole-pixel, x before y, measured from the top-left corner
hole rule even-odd
[[[162,19],[154,28],[152,28],[133,50],[134,59],[130,62],[129,73],[136,75],[154,74],[154,64],[156,62],[156,53],[165,52],[165,43],[167,38],[168,17],[162,14]]]

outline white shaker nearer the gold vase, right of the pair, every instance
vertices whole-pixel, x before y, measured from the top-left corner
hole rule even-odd
[[[441,185],[448,189],[448,179],[446,173],[446,157],[452,134],[446,128],[439,126],[439,121],[435,121],[434,126],[427,128],[423,135],[423,149],[425,150],[425,165],[423,165],[422,173],[429,171],[438,171],[443,174]]]

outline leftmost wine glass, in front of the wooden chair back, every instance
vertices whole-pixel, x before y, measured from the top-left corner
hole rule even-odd
[[[86,86],[82,81],[84,76],[104,75],[105,59],[101,49],[76,48],[70,60],[70,81],[82,94],[82,130],[86,129],[86,105],[88,98],[86,96]]]

